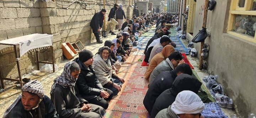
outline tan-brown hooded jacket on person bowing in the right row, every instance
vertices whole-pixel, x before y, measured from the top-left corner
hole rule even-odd
[[[145,72],[145,79],[146,80],[149,80],[149,77],[150,77],[150,74],[152,73],[152,71],[154,70],[154,68],[159,64],[161,63],[162,61],[164,61],[166,58],[168,58],[168,56],[174,52],[175,49],[173,46],[171,45],[167,45],[163,48],[162,52],[156,54],[152,60],[150,61],[149,63],[149,66],[148,68],[146,69],[146,72]]]

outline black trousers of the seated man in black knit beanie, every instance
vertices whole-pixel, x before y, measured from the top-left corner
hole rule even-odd
[[[103,107],[104,109],[108,108],[108,100],[111,100],[113,97],[113,92],[109,89],[104,88],[105,91],[108,92],[108,94],[110,95],[107,99],[103,99],[101,96],[95,96],[93,99],[87,100],[89,103],[94,104],[94,105],[98,105]]]

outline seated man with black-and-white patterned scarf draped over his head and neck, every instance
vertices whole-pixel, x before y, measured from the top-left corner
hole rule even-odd
[[[54,79],[50,91],[51,100],[60,118],[103,118],[106,113],[101,106],[89,104],[76,95],[75,83],[80,73],[78,63],[65,64],[62,74]]]

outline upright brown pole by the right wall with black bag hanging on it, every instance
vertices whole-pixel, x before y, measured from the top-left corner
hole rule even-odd
[[[208,14],[208,2],[209,0],[205,0],[204,2],[204,17],[203,17],[203,27],[206,28],[206,21],[207,21],[207,14]],[[201,56],[202,52],[203,52],[203,45],[204,45],[204,41],[201,42],[201,49],[200,49],[200,58],[199,58],[199,69],[203,69],[203,58]]]

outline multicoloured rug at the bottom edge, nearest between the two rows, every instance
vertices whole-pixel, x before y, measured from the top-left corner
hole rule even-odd
[[[104,118],[150,118],[148,113],[129,113],[121,111],[107,111]]]

